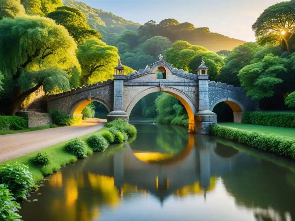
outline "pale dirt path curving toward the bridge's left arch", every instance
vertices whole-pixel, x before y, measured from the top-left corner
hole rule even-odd
[[[13,159],[44,147],[84,136],[104,127],[104,119],[87,119],[75,126],[49,128],[40,131],[0,136],[0,162]]]

